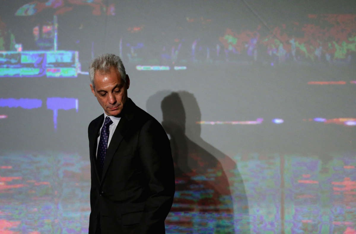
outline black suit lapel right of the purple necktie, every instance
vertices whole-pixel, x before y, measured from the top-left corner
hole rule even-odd
[[[108,149],[106,150],[105,160],[104,160],[104,167],[103,167],[103,175],[101,176],[101,182],[103,182],[105,178],[106,171],[108,171],[112,156],[114,156],[117,148],[119,147],[122,138],[124,138],[125,134],[129,130],[130,120],[133,118],[134,114],[134,107],[136,105],[128,99],[125,103],[125,108],[122,110],[122,117],[117,124],[114,134],[110,140],[110,144]]]

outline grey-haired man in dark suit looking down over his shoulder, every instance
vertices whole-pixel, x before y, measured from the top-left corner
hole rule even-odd
[[[165,233],[174,195],[167,134],[127,97],[130,78],[118,56],[94,59],[89,73],[91,92],[104,109],[88,127],[89,234]]]

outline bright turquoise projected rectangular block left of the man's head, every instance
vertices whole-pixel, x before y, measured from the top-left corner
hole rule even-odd
[[[0,51],[0,77],[74,78],[78,73],[78,51]]]

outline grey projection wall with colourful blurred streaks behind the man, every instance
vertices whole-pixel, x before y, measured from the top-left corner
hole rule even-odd
[[[90,61],[171,141],[166,233],[356,233],[354,1],[0,7],[0,233],[88,233]]]

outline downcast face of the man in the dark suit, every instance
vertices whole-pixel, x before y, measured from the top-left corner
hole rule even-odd
[[[94,85],[95,89],[90,84],[91,92],[98,99],[106,115],[119,115],[127,100],[127,89],[130,86],[129,76],[126,75],[125,83],[117,68],[111,67],[109,73],[95,72]]]

